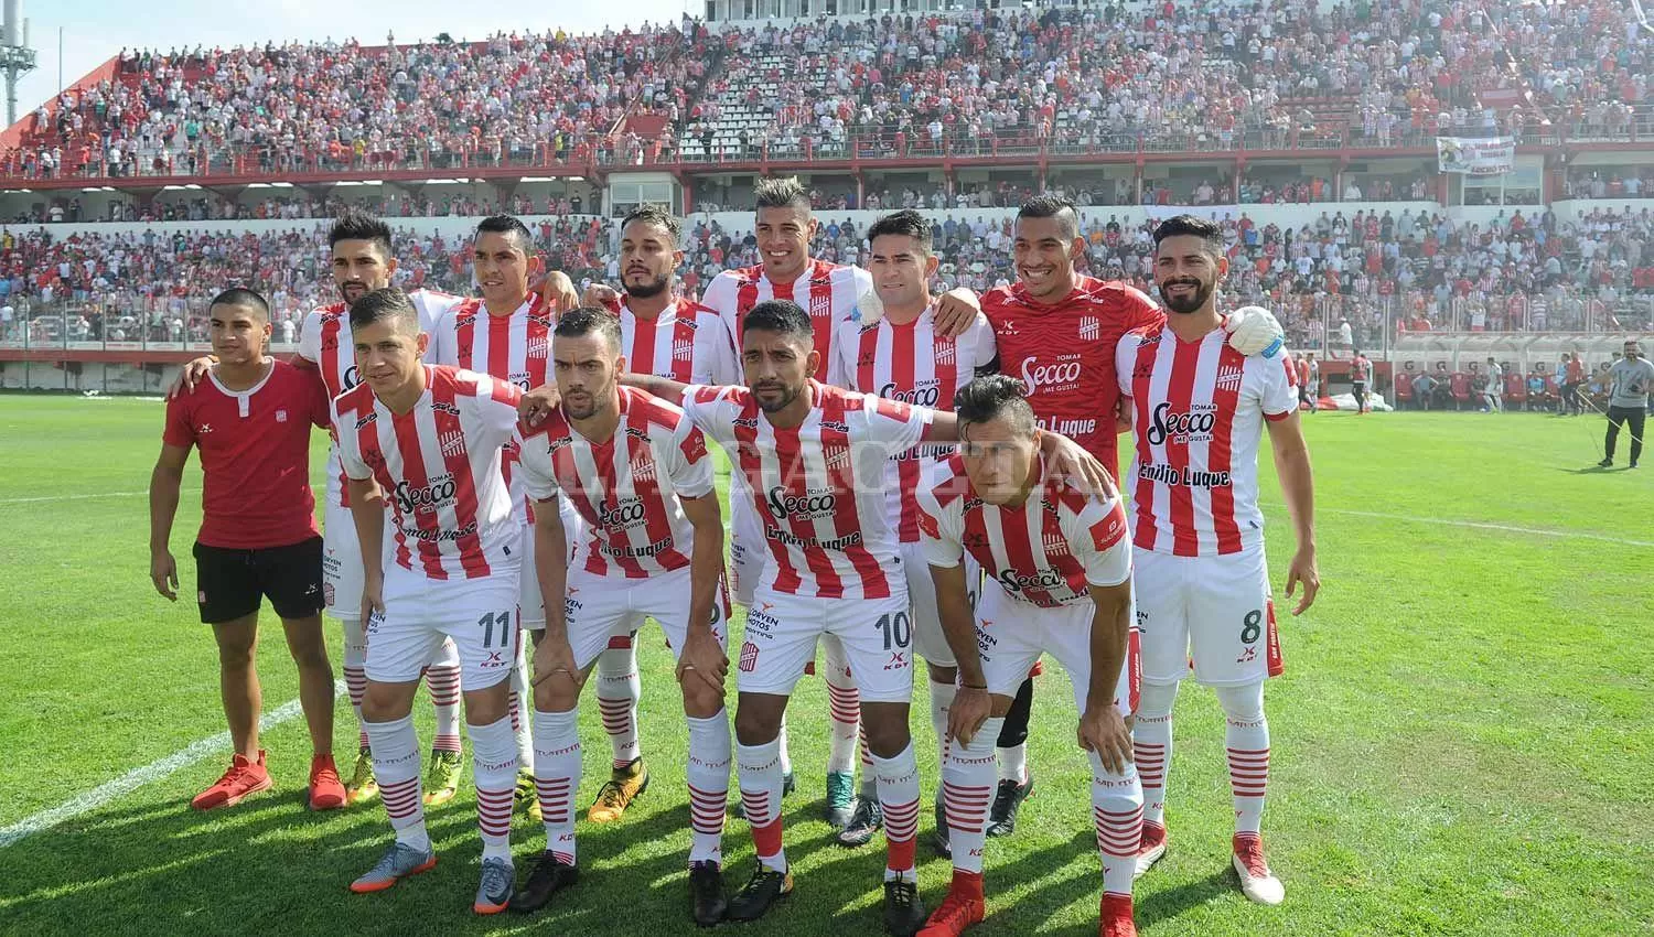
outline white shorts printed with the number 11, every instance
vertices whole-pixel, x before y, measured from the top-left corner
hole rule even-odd
[[[367,623],[367,679],[414,683],[443,638],[460,651],[460,687],[486,689],[511,676],[518,656],[518,567],[486,578],[425,578],[385,570],[385,611]]]

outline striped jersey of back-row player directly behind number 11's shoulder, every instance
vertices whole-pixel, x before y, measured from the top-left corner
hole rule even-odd
[[[531,294],[509,316],[495,316],[481,299],[471,297],[450,307],[433,329],[432,364],[463,367],[504,380],[519,390],[534,390],[551,380],[551,329],[539,294]],[[513,479],[518,461],[516,441],[506,445],[503,469],[511,502],[523,521],[533,524],[534,511],[528,496]]]

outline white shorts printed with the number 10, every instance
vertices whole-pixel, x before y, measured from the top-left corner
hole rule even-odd
[[[905,590],[890,598],[815,598],[759,585],[753,600],[736,664],[741,692],[791,696],[804,664],[815,659],[815,641],[837,635],[863,702],[911,699],[913,618]]]

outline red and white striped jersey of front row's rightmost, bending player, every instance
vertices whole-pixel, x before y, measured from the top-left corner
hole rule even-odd
[[[1090,600],[1090,587],[1131,578],[1131,544],[1120,499],[1098,501],[1045,474],[1022,504],[987,504],[971,488],[963,456],[949,456],[920,489],[925,559],[956,567],[971,554],[1011,598],[1060,608]]]

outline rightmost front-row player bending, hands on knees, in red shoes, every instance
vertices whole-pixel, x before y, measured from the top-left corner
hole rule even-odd
[[[936,608],[959,664],[948,714],[943,793],[953,884],[921,934],[956,935],[982,919],[982,844],[994,790],[994,740],[1040,653],[1068,671],[1080,747],[1092,759],[1092,813],[1103,861],[1103,937],[1136,934],[1131,878],[1143,790],[1126,719],[1136,696],[1131,547],[1125,509],[1060,488],[1040,456],[1024,385],[979,377],[954,397],[959,453],[920,489],[920,527]],[[963,559],[989,583],[973,621]]]

